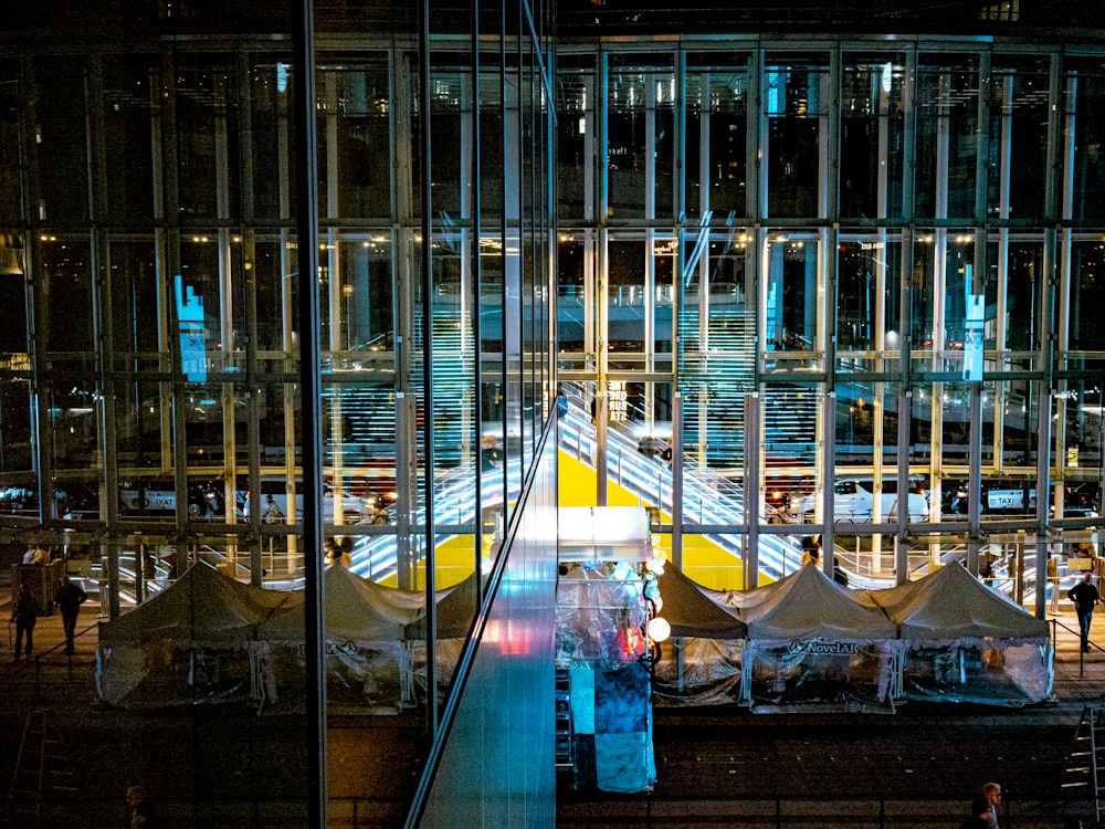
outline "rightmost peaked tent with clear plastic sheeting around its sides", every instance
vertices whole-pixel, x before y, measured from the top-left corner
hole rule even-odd
[[[1054,679],[1048,622],[958,564],[861,600],[883,608],[903,640],[908,700],[1019,706],[1046,700]]]

